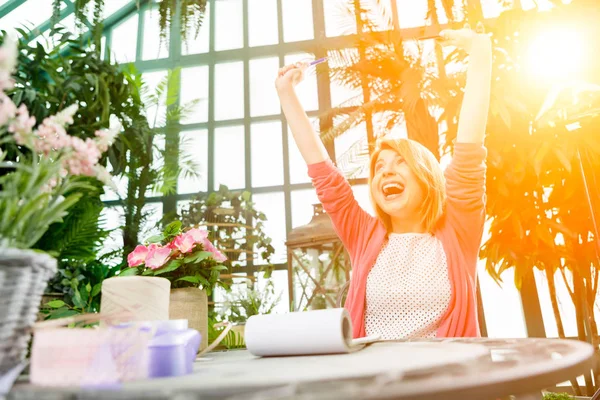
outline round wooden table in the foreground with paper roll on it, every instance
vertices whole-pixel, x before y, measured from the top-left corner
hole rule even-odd
[[[9,399],[497,399],[538,393],[592,366],[593,347],[559,339],[432,339],[375,343],[342,355],[208,354],[185,377],[117,391],[17,384]]]

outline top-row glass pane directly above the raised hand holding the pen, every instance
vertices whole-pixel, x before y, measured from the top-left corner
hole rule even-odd
[[[312,0],[282,0],[283,40],[297,42],[314,38]]]

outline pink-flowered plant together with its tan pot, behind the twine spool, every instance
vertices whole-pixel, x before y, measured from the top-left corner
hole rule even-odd
[[[167,225],[127,256],[129,269],[119,276],[158,276],[171,282],[170,319],[187,319],[202,335],[200,350],[208,345],[208,295],[224,286],[220,273],[227,258],[208,239],[208,231],[183,231],[181,221]]]

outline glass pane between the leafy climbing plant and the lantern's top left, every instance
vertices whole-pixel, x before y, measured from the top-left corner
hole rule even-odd
[[[265,233],[273,240],[272,245],[275,248],[271,262],[273,264],[286,262],[286,228],[283,193],[255,194],[252,196],[252,201],[256,205],[256,210],[263,212],[267,217],[265,221]]]

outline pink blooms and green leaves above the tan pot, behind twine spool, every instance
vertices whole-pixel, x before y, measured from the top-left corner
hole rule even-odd
[[[208,240],[208,231],[182,230],[181,221],[167,225],[161,235],[149,238],[127,256],[128,269],[120,276],[161,276],[171,281],[172,288],[202,287],[208,294],[216,286],[227,267],[227,258]]]

